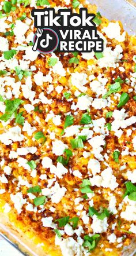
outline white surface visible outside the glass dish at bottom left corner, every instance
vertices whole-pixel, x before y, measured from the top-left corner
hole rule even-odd
[[[22,256],[11,244],[0,236],[0,255],[1,256]]]

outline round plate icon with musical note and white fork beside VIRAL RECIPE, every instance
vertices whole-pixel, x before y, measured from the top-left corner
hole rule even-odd
[[[56,32],[51,28],[37,28],[33,43],[33,51],[51,53],[57,48],[59,39]]]

